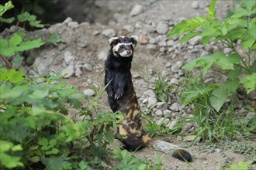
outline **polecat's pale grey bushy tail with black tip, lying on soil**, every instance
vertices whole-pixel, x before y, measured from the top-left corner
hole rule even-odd
[[[162,151],[167,155],[171,155],[175,158],[178,158],[179,160],[185,162],[192,161],[192,156],[189,154],[188,151],[185,151],[184,149],[179,148],[176,145],[172,145],[171,143],[168,143],[166,141],[152,141],[152,147],[157,151]]]

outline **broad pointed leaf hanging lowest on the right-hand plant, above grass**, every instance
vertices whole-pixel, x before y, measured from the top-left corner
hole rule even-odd
[[[218,87],[216,90],[213,90],[213,93],[209,97],[209,103],[212,107],[219,111],[227,100],[228,90],[226,87]]]

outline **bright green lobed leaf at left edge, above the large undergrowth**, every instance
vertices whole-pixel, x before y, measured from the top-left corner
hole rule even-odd
[[[0,39],[0,54],[3,56],[13,56],[22,51],[38,48],[43,44],[44,42],[40,38],[24,41],[19,33],[15,33],[9,40]]]

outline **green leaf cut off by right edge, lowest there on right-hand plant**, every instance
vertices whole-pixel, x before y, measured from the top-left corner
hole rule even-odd
[[[255,90],[256,87],[256,73],[252,73],[251,75],[244,76],[240,83],[243,84],[245,90],[247,90],[247,93],[250,93],[251,91]]]

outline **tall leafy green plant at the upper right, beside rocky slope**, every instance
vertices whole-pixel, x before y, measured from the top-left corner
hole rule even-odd
[[[179,42],[186,42],[195,36],[202,36],[203,45],[210,41],[220,41],[230,49],[233,49],[229,56],[226,56],[223,52],[216,52],[212,55],[192,59],[183,66],[186,71],[201,67],[202,76],[206,75],[211,69],[215,70],[215,66],[218,66],[220,68],[218,72],[227,76],[225,83],[216,83],[206,86],[206,89],[204,89],[209,93],[209,104],[216,111],[220,111],[228,95],[235,93],[239,85],[242,85],[247,90],[247,93],[250,93],[256,87],[256,63],[255,56],[253,57],[256,48],[256,33],[254,32],[256,29],[256,2],[241,2],[242,5],[234,9],[233,15],[221,21],[216,17],[216,0],[213,0],[206,16],[196,16],[182,21],[168,33],[168,38],[170,39],[187,33]],[[239,46],[235,46],[235,42],[238,39],[242,41],[240,48],[244,50],[246,56],[238,53],[237,48]],[[198,91],[193,87],[187,89],[182,95],[182,104],[189,104],[189,102],[198,98],[202,94],[200,91],[202,92],[202,90]]]

